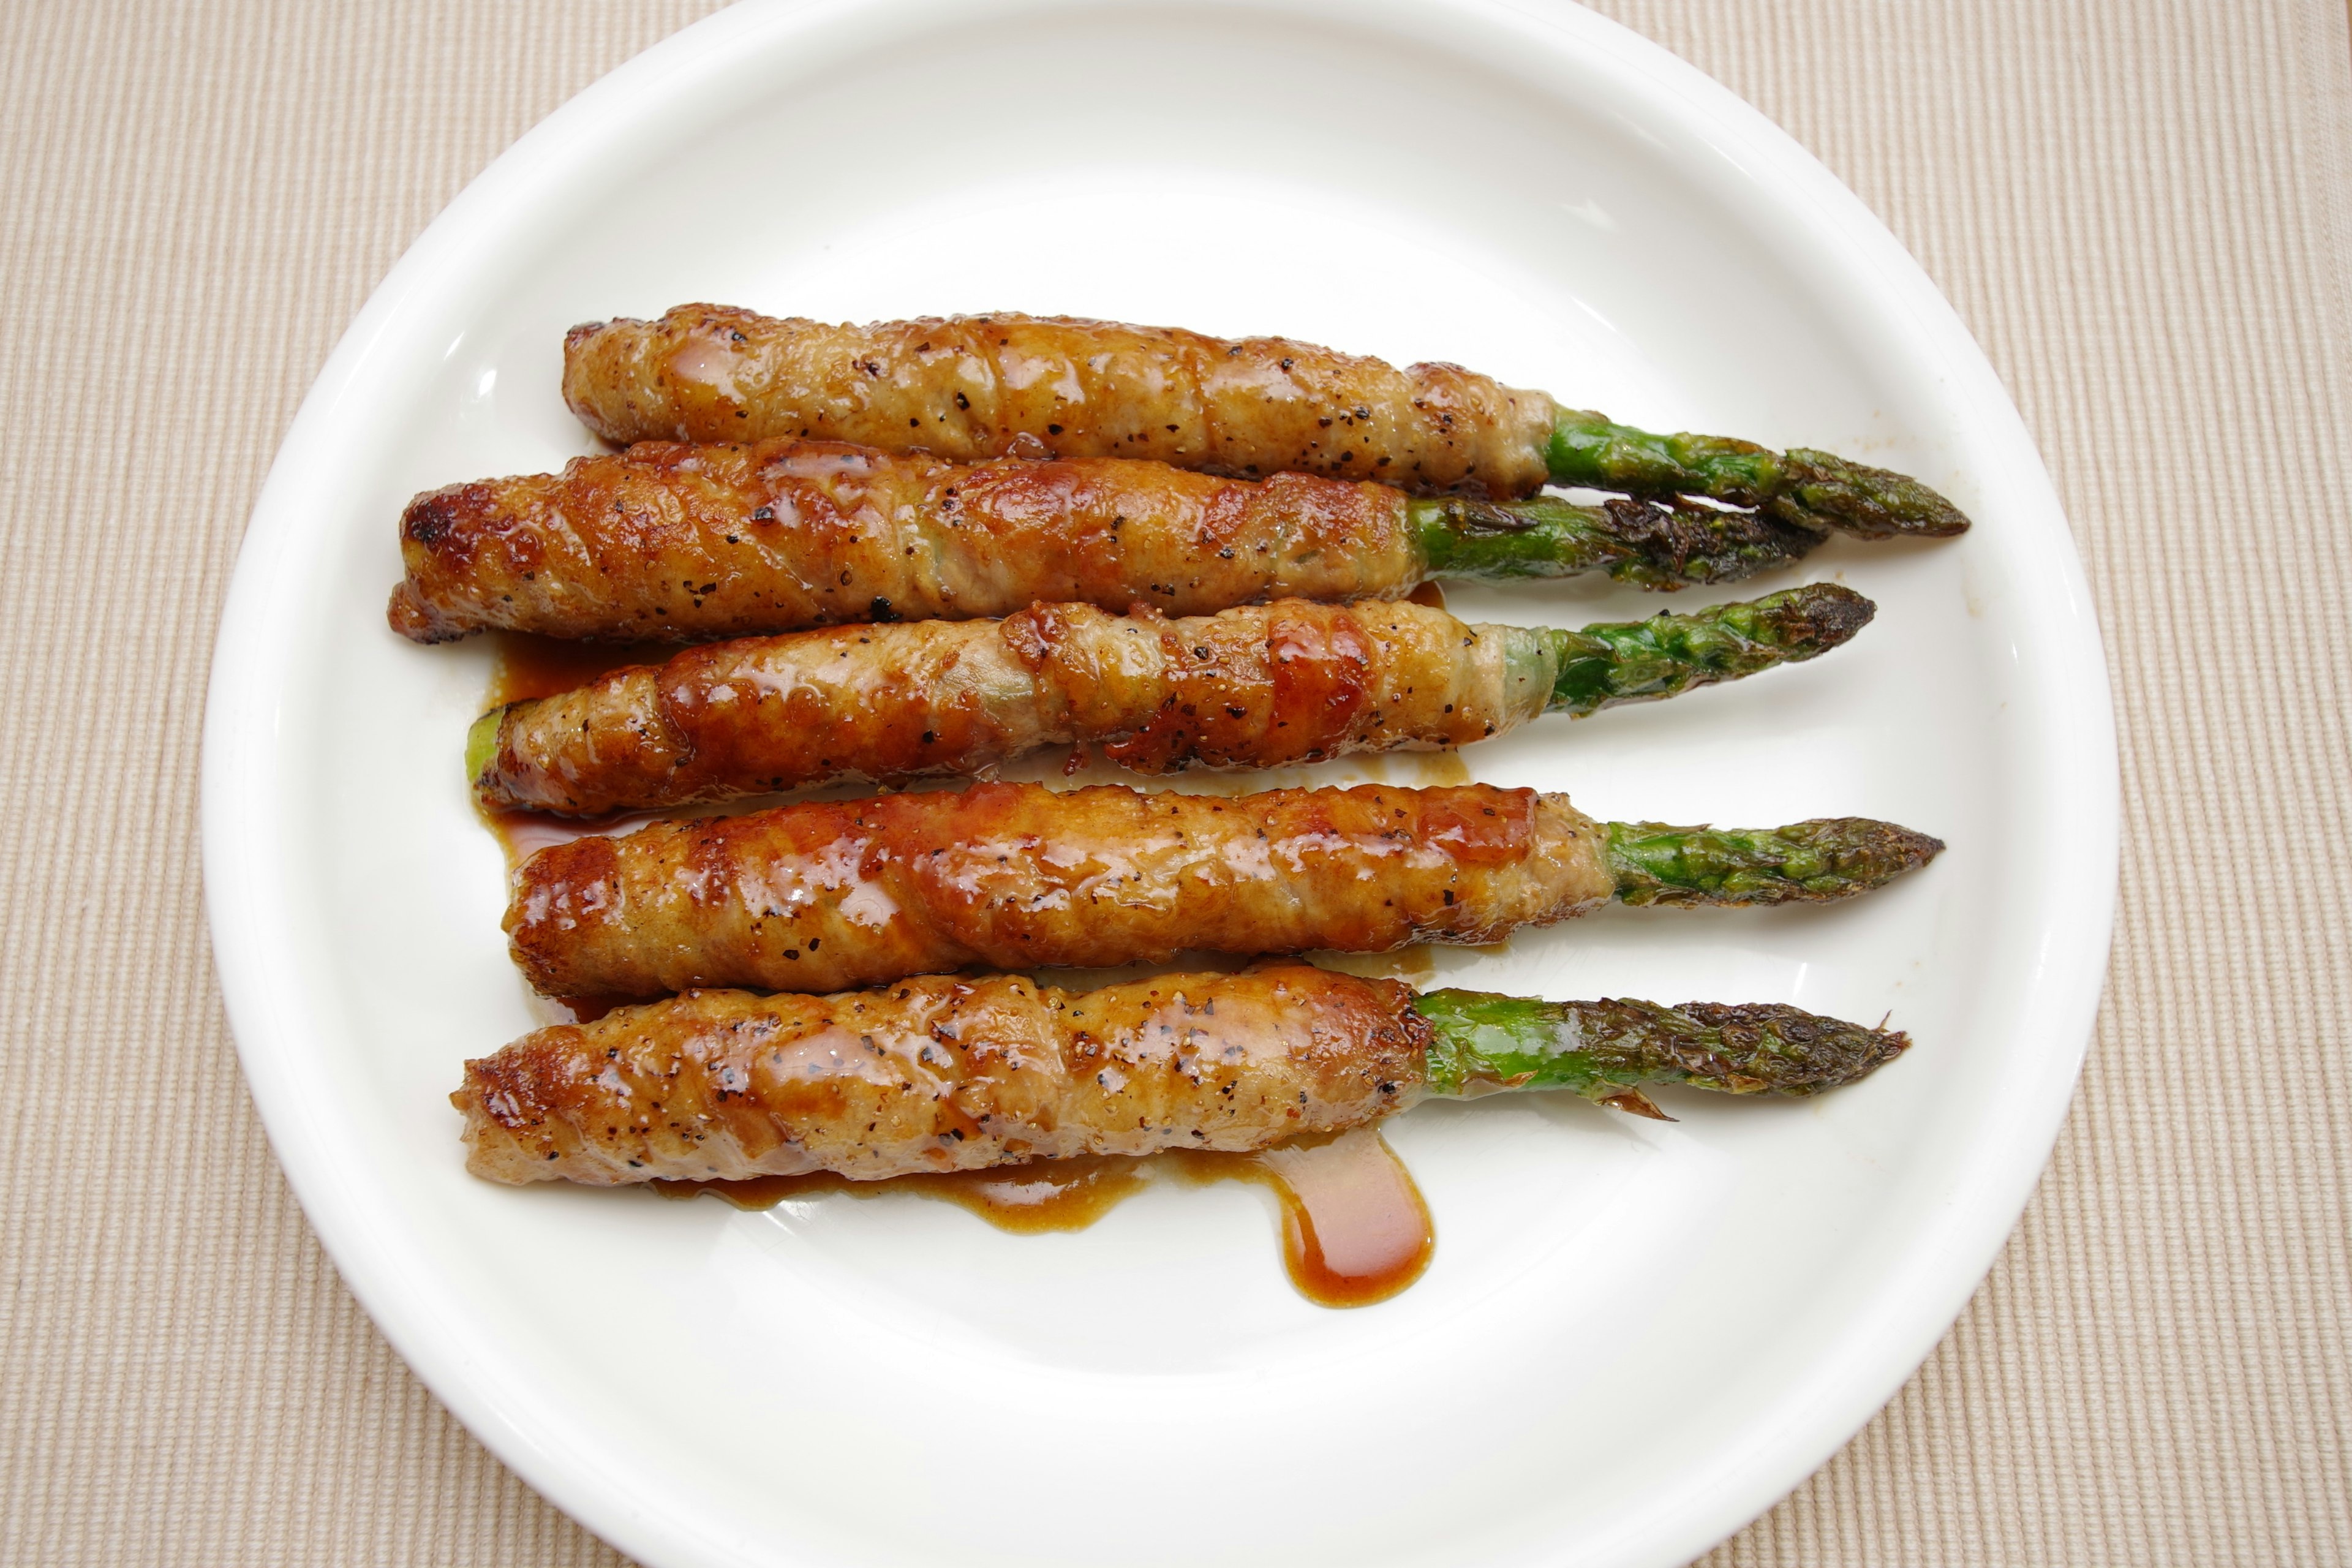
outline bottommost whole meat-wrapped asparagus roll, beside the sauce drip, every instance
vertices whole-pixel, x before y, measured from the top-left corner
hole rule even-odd
[[[1018,978],[835,997],[687,992],[466,1063],[499,1182],[854,1180],[1077,1154],[1249,1152],[1428,1095],[1644,1084],[1818,1093],[1910,1041],[1792,1006],[1522,1001],[1303,964],[1096,992]]]

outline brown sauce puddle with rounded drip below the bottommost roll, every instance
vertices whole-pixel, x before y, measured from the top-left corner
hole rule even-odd
[[[1188,1187],[1254,1182],[1282,1206],[1282,1265],[1319,1307],[1369,1307],[1421,1279],[1437,1237],[1411,1173],[1374,1126],[1305,1138],[1256,1154],[1169,1150],[1145,1159],[1049,1159],[997,1171],[854,1182],[828,1171],[748,1182],[654,1182],[661,1197],[710,1194],[736,1208],[833,1192],[913,1192],[967,1208],[997,1229],[1084,1229],[1155,1180]]]

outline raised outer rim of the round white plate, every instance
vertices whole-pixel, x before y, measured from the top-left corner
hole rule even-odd
[[[416,1281],[374,1244],[365,1213],[365,1173],[346,1171],[313,1121],[315,1107],[303,1093],[299,1072],[301,1039],[280,1004],[280,976],[273,976],[273,969],[282,966],[275,961],[278,954],[268,952],[263,936],[270,926],[282,858],[273,853],[266,818],[256,823],[254,811],[254,799],[268,795],[263,776],[270,771],[266,759],[275,755],[278,717],[275,705],[254,701],[273,675],[266,665],[266,637],[256,628],[268,625],[266,607],[278,597],[275,578],[289,564],[303,520],[299,496],[315,482],[308,473],[315,461],[308,454],[327,440],[339,418],[348,418],[341,404],[365,381],[374,353],[402,313],[437,282],[447,287],[452,268],[461,266],[468,249],[494,242],[503,223],[513,221],[503,212],[508,205],[522,205],[541,179],[564,179],[567,172],[590,162],[597,143],[619,134],[616,127],[626,125],[630,113],[644,113],[647,103],[684,92],[701,73],[724,73],[724,56],[734,49],[790,47],[795,33],[807,40],[821,31],[863,28],[868,38],[856,40],[856,47],[866,52],[908,26],[920,26],[915,16],[969,21],[974,9],[948,0],[748,0],[663,38],[524,132],[409,244],[322,364],[254,501],[214,642],[200,780],[205,910],[247,1088],[287,1182],[343,1284],[435,1399],[534,1490],[609,1544],[647,1563],[734,1561],[739,1547],[691,1519],[666,1514],[642,1495],[644,1486],[633,1493],[630,1476],[614,1474],[614,1467],[602,1465],[581,1443],[553,1432],[546,1413],[529,1408],[524,1389],[496,1385],[470,1356],[459,1324],[437,1314]],[[1000,16],[1068,9],[1162,7],[1148,0],[988,5],[988,12]],[[2105,983],[2122,853],[2114,710],[2089,581],[2025,421],[1957,310],[1860,197],[1729,87],[1639,33],[1581,7],[1529,9],[1508,0],[1357,0],[1355,5],[1235,0],[1214,7],[1211,14],[1223,9],[1343,19],[1359,31],[1406,35],[1425,31],[1432,19],[1454,16],[1463,26],[1501,28],[1555,52],[1590,52],[1644,85],[1656,108],[1675,113],[1677,129],[1700,136],[1712,150],[1740,165],[1759,193],[1797,207],[1792,216],[1804,228],[1835,235],[1851,247],[1846,256],[1851,270],[1882,296],[1882,303],[1898,306],[1936,360],[1955,369],[1962,386],[1955,386],[1952,395],[1983,421],[1983,435],[1997,437],[2011,465],[2011,482],[2030,498],[2030,505],[2020,508],[2018,524],[2044,534],[2032,541],[2032,550],[2056,567],[2056,581],[2042,588],[2044,599],[2056,599],[2063,611],[2063,618],[2049,621],[2046,632],[2065,651],[2067,677],[2053,693],[2053,729],[2063,729],[2070,748],[2053,755],[2051,771],[2074,780],[2072,799],[2063,802],[2072,811],[2063,853],[2079,872],[2063,882],[2063,896],[2053,903],[2053,924],[2063,919],[2079,931],[2072,945],[2079,957],[2070,954],[2072,961],[2060,966],[2063,973],[2051,973],[2046,964],[2037,976],[2039,1016],[2046,1020],[2039,1032],[2058,1041],[2058,1048],[2044,1063],[2037,1095],[2016,1107],[1999,1147],[1980,1152],[1955,1173],[1973,1180],[1955,1180],[1957,1215],[1947,1222],[1945,1246],[1933,1260],[1940,1267],[1917,1269],[1919,1279],[1905,1295],[1910,1309],[1900,1314],[1903,1321],[1858,1326],[1853,1349],[1811,1368],[1816,1378],[1778,1401],[1783,1420],[1773,1441],[1748,1443],[1740,1455],[1717,1465],[1703,1500],[1682,1497],[1677,1509],[1651,1509],[1642,1530],[1628,1526],[1616,1530],[1613,1540],[1583,1542],[1595,1561],[1679,1563],[1759,1516],[1877,1415],[1990,1274],[2049,1164],[2072,1105]],[[2070,724],[2060,726],[2060,717]]]

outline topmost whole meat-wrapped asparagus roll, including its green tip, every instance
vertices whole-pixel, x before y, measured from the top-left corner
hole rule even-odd
[[[870,327],[677,306],[564,339],[564,402],[612,442],[814,435],[953,461],[1155,458],[1317,473],[1414,494],[1552,484],[1712,496],[1811,529],[1957,534],[1962,512],[1884,468],[1651,435],[1456,364],[1395,369],[1291,339],[1209,339],[1035,315]]]

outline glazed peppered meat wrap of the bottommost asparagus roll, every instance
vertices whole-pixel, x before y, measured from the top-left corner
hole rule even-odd
[[[1077,1154],[1247,1152],[1423,1088],[1395,980],[1303,964],[1094,992],[1021,978],[833,997],[687,992],[466,1063],[466,1166],[600,1187],[856,1180]]]

